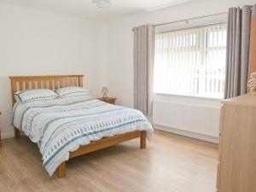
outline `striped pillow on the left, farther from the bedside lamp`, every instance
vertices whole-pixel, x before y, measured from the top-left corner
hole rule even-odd
[[[58,95],[53,90],[37,89],[37,90],[20,90],[15,92],[17,102],[29,102],[34,100],[55,99]]]

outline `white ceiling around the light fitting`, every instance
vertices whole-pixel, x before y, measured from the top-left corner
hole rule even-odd
[[[113,6],[107,9],[96,8],[91,0],[0,0],[0,3],[11,3],[90,20],[108,21],[190,1],[194,0],[111,0]]]

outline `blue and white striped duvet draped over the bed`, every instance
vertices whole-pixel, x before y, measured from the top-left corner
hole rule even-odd
[[[146,130],[148,137],[153,132],[143,113],[93,96],[16,103],[13,124],[38,143],[50,176],[80,145],[129,131]]]

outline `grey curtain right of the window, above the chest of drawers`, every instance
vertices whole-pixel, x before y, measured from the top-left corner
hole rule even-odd
[[[247,93],[252,7],[230,8],[224,98]]]

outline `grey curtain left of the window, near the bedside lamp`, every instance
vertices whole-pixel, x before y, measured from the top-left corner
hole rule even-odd
[[[133,27],[134,108],[152,113],[154,26]]]

